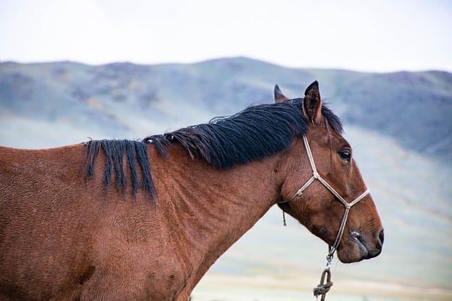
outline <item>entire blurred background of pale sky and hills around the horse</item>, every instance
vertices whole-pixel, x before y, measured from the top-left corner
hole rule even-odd
[[[0,0],[0,145],[139,139],[319,80],[386,236],[375,259],[334,260],[327,300],[452,300],[451,17],[439,0]],[[192,300],[314,300],[327,246],[281,215]]]

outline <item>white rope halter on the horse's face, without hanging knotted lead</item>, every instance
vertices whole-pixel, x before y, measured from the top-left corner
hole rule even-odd
[[[357,202],[359,202],[360,200],[362,200],[366,195],[369,194],[369,189],[367,189],[366,191],[362,192],[361,195],[359,195],[359,197],[357,197],[356,199],[354,199],[352,202],[348,203],[347,201],[345,201],[345,199],[339,195],[339,193],[337,191],[334,190],[333,187],[331,187],[331,185],[328,184],[328,182],[326,182],[325,179],[323,179],[319,173],[317,172],[317,168],[316,168],[316,164],[314,163],[314,157],[312,156],[312,152],[311,152],[311,148],[309,147],[309,142],[307,140],[306,135],[303,135],[303,142],[304,142],[304,147],[306,147],[306,152],[308,154],[308,158],[309,158],[309,163],[311,164],[311,168],[312,168],[312,176],[309,180],[307,180],[307,183],[305,183],[302,188],[300,188],[297,192],[295,192],[295,195],[290,199],[294,199],[295,197],[299,197],[300,195],[302,195],[302,193],[304,192],[304,190],[306,190],[309,185],[311,185],[311,183],[314,182],[314,180],[319,180],[320,183],[323,184],[323,186],[325,186],[328,190],[331,191],[331,193],[333,193],[333,195],[335,195],[335,197],[337,197],[340,202],[342,202],[344,204],[345,207],[345,213],[344,216],[342,218],[342,222],[340,223],[340,228],[338,231],[338,235],[336,236],[336,239],[333,243],[333,245],[330,247],[329,252],[328,252],[328,256],[326,257],[326,259],[328,260],[328,266],[329,264],[331,264],[331,260],[333,259],[333,254],[334,252],[337,250],[340,240],[342,239],[342,235],[344,233],[344,228],[345,228],[345,223],[347,223],[347,218],[348,218],[348,212],[350,211],[350,208],[357,204]],[[290,201],[286,201],[286,202],[290,202]]]

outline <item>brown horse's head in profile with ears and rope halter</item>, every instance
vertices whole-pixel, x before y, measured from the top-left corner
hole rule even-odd
[[[322,104],[317,82],[307,87],[304,99],[288,99],[275,86],[275,102],[297,101],[309,129],[281,163],[278,206],[327,242],[330,255],[337,251],[341,262],[378,256],[383,226],[339,119]]]

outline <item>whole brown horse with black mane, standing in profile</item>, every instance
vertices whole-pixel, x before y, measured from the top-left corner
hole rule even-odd
[[[377,256],[379,215],[317,82],[275,100],[141,142],[0,147],[0,299],[187,300],[275,204],[340,261]],[[335,193],[362,195],[347,218]]]

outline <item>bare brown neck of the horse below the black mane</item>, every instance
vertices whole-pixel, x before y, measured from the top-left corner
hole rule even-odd
[[[164,211],[165,222],[177,226],[179,239],[189,245],[187,259],[200,262],[194,266],[198,278],[275,204],[278,159],[277,154],[219,170],[175,148],[160,161],[164,168],[153,168],[157,214]]]

